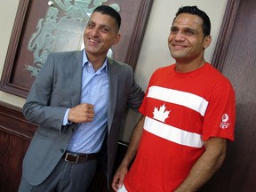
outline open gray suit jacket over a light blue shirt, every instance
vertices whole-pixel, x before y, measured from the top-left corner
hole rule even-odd
[[[23,106],[23,114],[38,124],[23,161],[23,176],[31,185],[42,183],[65,152],[78,124],[63,126],[68,108],[80,104],[83,51],[50,53]],[[112,176],[119,130],[128,107],[139,108],[144,92],[135,83],[132,68],[108,59],[108,140],[105,172]]]

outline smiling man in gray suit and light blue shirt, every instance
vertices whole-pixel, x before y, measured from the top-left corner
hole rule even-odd
[[[108,183],[125,109],[144,92],[132,68],[107,57],[120,40],[121,17],[97,7],[84,30],[84,50],[50,53],[28,93],[23,113],[38,124],[23,161],[20,192],[86,191],[97,161]]]

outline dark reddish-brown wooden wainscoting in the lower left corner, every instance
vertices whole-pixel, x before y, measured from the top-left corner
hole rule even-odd
[[[20,108],[0,102],[0,191],[17,191],[22,160],[35,131],[36,124],[29,124]]]

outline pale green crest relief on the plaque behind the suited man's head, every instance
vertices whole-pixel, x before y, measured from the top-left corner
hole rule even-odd
[[[29,39],[28,51],[33,52],[34,61],[25,64],[25,70],[31,72],[31,76],[37,76],[49,52],[80,50],[84,46],[84,28],[92,11],[106,2],[108,0],[49,1],[45,18],[38,20],[36,32]],[[120,11],[118,4],[109,6]]]

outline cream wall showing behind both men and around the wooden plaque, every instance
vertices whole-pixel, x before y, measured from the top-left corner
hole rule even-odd
[[[19,0],[2,1],[4,1],[4,3],[2,2],[0,6],[0,76],[2,76],[3,73],[5,55],[19,4]],[[202,9],[209,15],[212,21],[212,44],[205,52],[205,59],[211,61],[227,2],[228,0],[154,0],[135,71],[136,81],[143,90],[146,90],[149,77],[156,68],[174,62],[167,46],[167,37],[175,12],[177,12],[179,7],[181,5],[197,5],[199,9]],[[20,108],[25,102],[24,99],[6,92],[0,92],[0,100]],[[134,118],[137,118],[137,115],[129,111],[121,135],[121,139],[124,141],[128,141],[130,138],[135,122]]]

